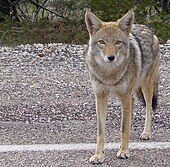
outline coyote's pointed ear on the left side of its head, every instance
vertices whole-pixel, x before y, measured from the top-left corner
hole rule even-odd
[[[86,11],[85,13],[85,22],[89,35],[91,36],[102,26],[101,20],[90,11]]]

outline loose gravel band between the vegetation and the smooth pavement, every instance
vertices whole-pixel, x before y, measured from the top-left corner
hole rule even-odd
[[[53,122],[93,120],[94,95],[83,52],[86,46],[21,45],[0,49],[0,120]],[[159,105],[154,125],[169,128],[170,45],[161,45]],[[136,103],[133,125],[143,121]],[[109,101],[108,119],[120,124],[120,104]]]

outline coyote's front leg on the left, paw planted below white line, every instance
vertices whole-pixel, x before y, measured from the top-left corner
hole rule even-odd
[[[91,163],[102,163],[104,161],[104,142],[105,142],[105,124],[107,113],[108,94],[96,94],[96,112],[97,112],[97,146],[95,155],[90,158]]]

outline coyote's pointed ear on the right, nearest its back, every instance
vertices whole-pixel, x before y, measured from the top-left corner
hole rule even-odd
[[[121,19],[118,20],[118,25],[122,31],[127,35],[131,32],[132,24],[134,22],[134,12],[130,10]]]

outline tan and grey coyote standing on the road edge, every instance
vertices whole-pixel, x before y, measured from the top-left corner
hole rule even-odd
[[[133,10],[116,22],[103,22],[91,11],[86,11],[85,22],[90,36],[86,63],[98,120],[96,152],[90,162],[104,161],[109,94],[118,96],[122,107],[121,146],[117,157],[128,158],[134,93],[146,104],[145,126],[140,138],[151,138],[152,111],[157,106],[158,39],[147,26],[133,24]]]

